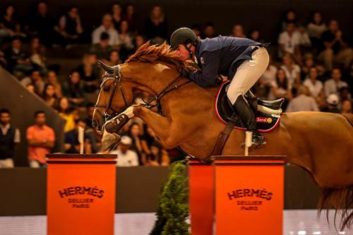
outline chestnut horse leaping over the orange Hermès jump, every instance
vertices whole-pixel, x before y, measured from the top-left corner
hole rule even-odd
[[[164,147],[179,146],[199,159],[209,157],[225,127],[215,114],[217,88],[201,88],[181,78],[180,68],[186,64],[167,44],[146,43],[124,64],[102,66],[108,73],[92,119],[97,131],[105,134],[107,119],[104,117],[109,119],[125,110],[129,118],[143,119]],[[158,97],[162,114],[141,105],[131,106],[136,90]],[[341,228],[350,227],[353,220],[352,123],[353,115],[285,113],[274,131],[263,134],[267,145],[252,150],[251,155],[287,155],[287,162],[309,171],[323,189],[319,209],[335,207],[336,212],[338,208],[344,209]],[[244,133],[234,129],[222,154],[242,155],[241,143],[244,143]]]

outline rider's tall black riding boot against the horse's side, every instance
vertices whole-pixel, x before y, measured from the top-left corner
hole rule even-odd
[[[243,125],[253,133],[252,145],[255,147],[265,145],[266,140],[263,135],[258,132],[258,128],[256,127],[256,116],[242,95],[239,95],[233,107]]]

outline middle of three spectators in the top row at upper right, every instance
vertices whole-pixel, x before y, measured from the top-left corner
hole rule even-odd
[[[312,14],[310,23],[306,26],[306,31],[310,37],[313,47],[320,46],[320,38],[326,31],[326,25],[323,23],[321,13],[316,11]]]

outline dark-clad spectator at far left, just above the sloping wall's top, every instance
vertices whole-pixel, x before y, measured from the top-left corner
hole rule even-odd
[[[7,61],[7,69],[10,72],[16,70],[28,73],[33,68],[28,53],[22,45],[21,37],[12,37],[11,48],[5,51],[5,59]]]

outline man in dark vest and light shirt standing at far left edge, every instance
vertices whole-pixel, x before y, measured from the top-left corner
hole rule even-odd
[[[13,168],[16,145],[20,143],[20,131],[11,125],[11,115],[7,109],[0,109],[0,168]]]

